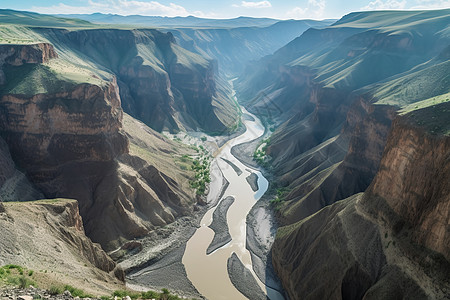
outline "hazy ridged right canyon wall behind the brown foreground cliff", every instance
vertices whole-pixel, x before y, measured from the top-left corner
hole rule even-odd
[[[284,188],[285,224],[364,191],[395,111],[448,92],[448,16],[352,13],[306,31],[239,79],[249,110],[279,124],[267,154]]]

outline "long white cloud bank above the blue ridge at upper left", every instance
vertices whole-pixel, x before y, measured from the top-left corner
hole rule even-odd
[[[70,6],[63,3],[58,5],[43,7],[34,6],[33,11],[44,14],[91,14],[95,12],[112,13],[120,15],[157,15],[157,16],[189,16],[190,13],[183,6],[170,3],[169,5],[161,4],[158,1],[138,1],[138,0],[89,0],[86,6]],[[195,12],[197,15],[202,12]]]

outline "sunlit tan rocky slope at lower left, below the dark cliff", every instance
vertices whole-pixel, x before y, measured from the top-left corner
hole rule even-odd
[[[98,284],[99,290],[117,287],[116,276],[124,279],[123,271],[116,268],[100,245],[86,237],[77,201],[4,202],[2,206],[2,265],[48,270],[52,280],[65,283],[61,282],[63,278],[79,287],[84,287],[84,278],[88,278]],[[95,290],[95,285],[87,288]]]

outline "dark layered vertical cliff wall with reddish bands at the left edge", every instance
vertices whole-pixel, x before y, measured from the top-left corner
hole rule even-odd
[[[21,167],[110,161],[127,151],[114,81],[105,87],[79,84],[56,94],[6,94],[0,105],[2,135]]]

